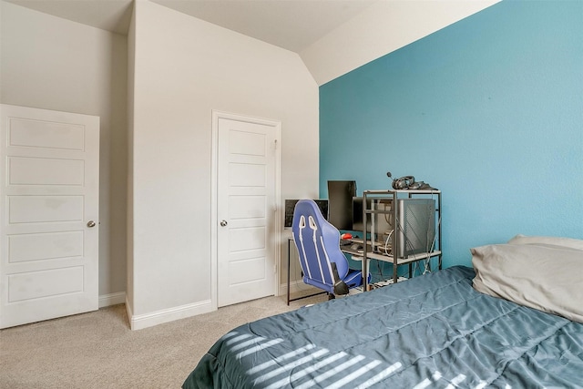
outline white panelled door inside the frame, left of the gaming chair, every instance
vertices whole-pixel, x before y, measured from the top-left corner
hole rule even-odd
[[[218,306],[275,293],[279,128],[218,118]]]

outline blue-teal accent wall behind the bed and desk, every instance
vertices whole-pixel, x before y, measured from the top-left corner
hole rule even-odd
[[[583,239],[583,2],[506,0],[322,85],[321,197],[387,171],[443,191],[446,267]]]

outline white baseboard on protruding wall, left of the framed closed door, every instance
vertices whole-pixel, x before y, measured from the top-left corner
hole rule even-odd
[[[128,318],[132,330],[141,330],[152,327],[154,325],[162,324],[164,322],[172,322],[187,317],[196,316],[202,313],[215,311],[210,300],[204,302],[194,302],[192,304],[180,305],[165,310],[156,312],[144,313],[134,315],[128,307]]]

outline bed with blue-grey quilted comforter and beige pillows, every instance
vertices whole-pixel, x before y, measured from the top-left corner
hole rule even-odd
[[[583,387],[583,241],[530,238],[241,325],[183,388]]]

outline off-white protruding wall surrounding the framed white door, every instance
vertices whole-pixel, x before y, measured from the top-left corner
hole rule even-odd
[[[128,312],[143,328],[211,309],[212,109],[281,120],[282,198],[313,195],[318,86],[297,54],[147,1],[135,12]]]

